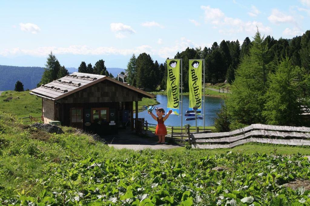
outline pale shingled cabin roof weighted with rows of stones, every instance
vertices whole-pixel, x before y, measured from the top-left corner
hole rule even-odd
[[[78,92],[84,88],[105,80],[114,82],[135,92],[139,92],[143,97],[154,98],[154,96],[148,92],[144,92],[141,89],[122,83],[108,76],[80,72],[74,72],[48,84],[42,84],[40,87],[31,90],[30,94],[51,100],[59,100],[73,94],[74,92]]]

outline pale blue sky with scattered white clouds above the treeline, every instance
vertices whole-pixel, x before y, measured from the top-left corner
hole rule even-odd
[[[126,68],[146,52],[164,62],[185,48],[310,29],[310,0],[0,1],[0,64],[43,67],[52,51],[65,67],[103,59]]]

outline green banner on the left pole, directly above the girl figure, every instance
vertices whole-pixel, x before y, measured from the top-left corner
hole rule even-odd
[[[180,59],[167,59],[167,110],[179,115]]]

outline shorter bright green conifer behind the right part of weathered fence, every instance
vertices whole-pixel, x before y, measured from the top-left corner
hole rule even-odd
[[[292,66],[288,58],[278,66],[275,74],[270,75],[270,86],[264,98],[263,116],[271,125],[299,126],[301,119],[301,102],[298,98],[302,93],[297,75],[300,68]]]

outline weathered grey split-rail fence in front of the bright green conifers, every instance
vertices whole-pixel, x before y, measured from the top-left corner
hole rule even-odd
[[[252,124],[231,132],[191,134],[188,141],[192,148],[214,149],[232,148],[248,142],[309,146],[308,139],[310,127]]]

